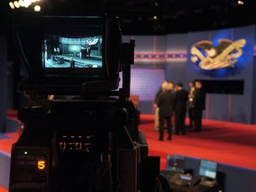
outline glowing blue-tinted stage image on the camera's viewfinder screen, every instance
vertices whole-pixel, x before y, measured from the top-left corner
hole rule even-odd
[[[44,36],[43,68],[102,68],[102,36]]]

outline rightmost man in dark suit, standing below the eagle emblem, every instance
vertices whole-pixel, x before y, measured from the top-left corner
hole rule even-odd
[[[203,116],[203,110],[205,109],[206,94],[205,94],[202,82],[196,81],[195,86],[196,86],[196,89],[195,89],[195,92],[194,92],[195,131],[200,132],[200,131],[202,131],[202,116]]]

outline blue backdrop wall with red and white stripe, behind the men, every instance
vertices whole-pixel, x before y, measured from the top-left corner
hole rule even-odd
[[[195,79],[244,80],[243,94],[207,94],[204,118],[255,124],[255,34],[255,26],[247,26],[167,36],[124,36],[124,42],[135,39],[131,94],[140,96],[140,112],[154,113],[154,97],[164,79],[181,82],[186,89],[188,81]],[[236,65],[212,71],[196,67],[190,60],[191,46],[203,40],[218,44],[220,39],[246,40],[243,55]]]

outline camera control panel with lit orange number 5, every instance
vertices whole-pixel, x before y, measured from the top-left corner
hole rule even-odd
[[[50,156],[50,148],[13,147],[10,191],[45,191],[48,188],[49,170],[52,166]]]

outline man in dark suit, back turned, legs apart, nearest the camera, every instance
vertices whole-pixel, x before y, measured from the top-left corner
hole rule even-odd
[[[156,100],[156,105],[159,108],[159,139],[164,140],[164,120],[167,125],[168,138],[172,140],[172,113],[174,94],[171,92],[172,83],[165,82],[162,84],[163,92],[161,92]]]

